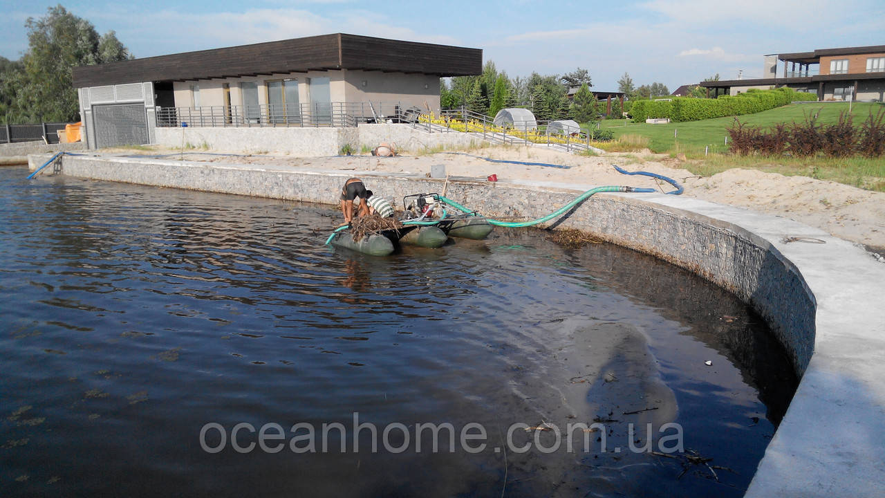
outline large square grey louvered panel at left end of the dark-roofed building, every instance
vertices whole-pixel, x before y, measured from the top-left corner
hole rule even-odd
[[[93,105],[96,148],[150,143],[144,105]]]

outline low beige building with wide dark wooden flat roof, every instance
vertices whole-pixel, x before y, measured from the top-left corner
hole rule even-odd
[[[89,148],[155,144],[164,127],[355,127],[438,111],[439,79],[482,51],[319,35],[73,69]]]

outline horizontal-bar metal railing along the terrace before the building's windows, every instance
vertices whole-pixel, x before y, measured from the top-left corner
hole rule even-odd
[[[414,122],[420,113],[411,105],[370,102],[160,107],[157,126],[355,127],[370,122]]]

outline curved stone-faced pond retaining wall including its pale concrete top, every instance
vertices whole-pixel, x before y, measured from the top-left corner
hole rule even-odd
[[[342,179],[359,175],[396,195],[448,189],[492,215],[534,216],[594,186],[85,156],[65,157],[61,171],[333,205]],[[885,496],[885,264],[802,223],[689,197],[599,194],[562,226],[696,271],[772,325],[802,379],[747,496]]]

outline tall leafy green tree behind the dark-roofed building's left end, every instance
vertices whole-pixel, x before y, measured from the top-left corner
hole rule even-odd
[[[99,36],[96,28],[65,7],[47,9],[40,19],[28,18],[28,49],[19,71],[7,71],[0,101],[10,99],[9,121],[74,121],[79,114],[72,68],[132,58],[113,31]],[[7,122],[9,122],[7,121]]]

